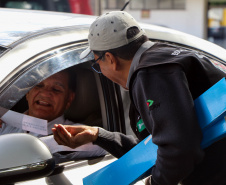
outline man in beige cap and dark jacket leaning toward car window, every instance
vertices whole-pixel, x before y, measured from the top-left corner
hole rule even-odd
[[[75,148],[93,142],[119,158],[151,134],[158,153],[146,184],[225,185],[226,139],[201,149],[194,100],[226,74],[197,52],[149,41],[123,11],[98,17],[88,41],[80,57],[93,52],[94,70],[129,90],[138,139],[102,128],[55,125],[58,144]]]

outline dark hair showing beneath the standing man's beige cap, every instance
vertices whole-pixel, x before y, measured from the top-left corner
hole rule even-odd
[[[140,30],[137,27],[129,28],[127,30],[127,39],[134,37],[139,32],[140,32]],[[106,50],[106,51],[93,51],[93,52],[99,57],[103,56],[104,53],[106,53],[106,52],[110,52],[114,56],[117,56],[119,58],[122,58],[125,60],[131,60],[131,59],[133,59],[135,53],[140,48],[140,46],[146,41],[148,41],[148,37],[146,35],[142,35],[138,39],[132,41],[131,43],[129,43],[125,46],[122,46],[122,47],[119,47],[116,49]]]

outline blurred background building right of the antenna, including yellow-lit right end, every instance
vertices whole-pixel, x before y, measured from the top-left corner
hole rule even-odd
[[[128,0],[102,0],[102,13],[120,10]],[[226,0],[130,0],[136,20],[176,29],[226,48]]]

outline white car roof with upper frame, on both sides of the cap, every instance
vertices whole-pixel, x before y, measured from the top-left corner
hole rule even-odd
[[[96,16],[37,10],[0,8],[0,73],[2,81],[29,58],[57,46],[84,42]],[[226,50],[173,29],[141,24],[149,38],[205,51],[226,61]],[[81,61],[84,62],[84,61]],[[12,64],[12,65],[9,65]]]

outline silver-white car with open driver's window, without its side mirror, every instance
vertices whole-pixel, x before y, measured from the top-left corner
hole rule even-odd
[[[25,94],[33,86],[71,67],[77,76],[77,92],[65,116],[74,122],[131,134],[128,92],[91,69],[92,55],[79,59],[88,45],[88,28],[95,17],[12,9],[0,9],[0,16],[3,17],[0,20],[0,107],[23,113],[27,109]],[[226,71],[225,49],[168,28],[147,24],[142,24],[142,27],[150,40],[196,50]],[[15,152],[19,160],[21,151]],[[10,154],[8,157],[10,159]],[[22,173],[21,176],[29,181],[16,184],[79,185],[82,178],[114,160],[111,155],[75,159],[56,165],[52,174],[45,178],[29,180],[30,177]],[[2,165],[0,161],[0,174],[4,169]],[[8,178],[11,178],[10,174]],[[15,181],[18,179],[15,178]]]

